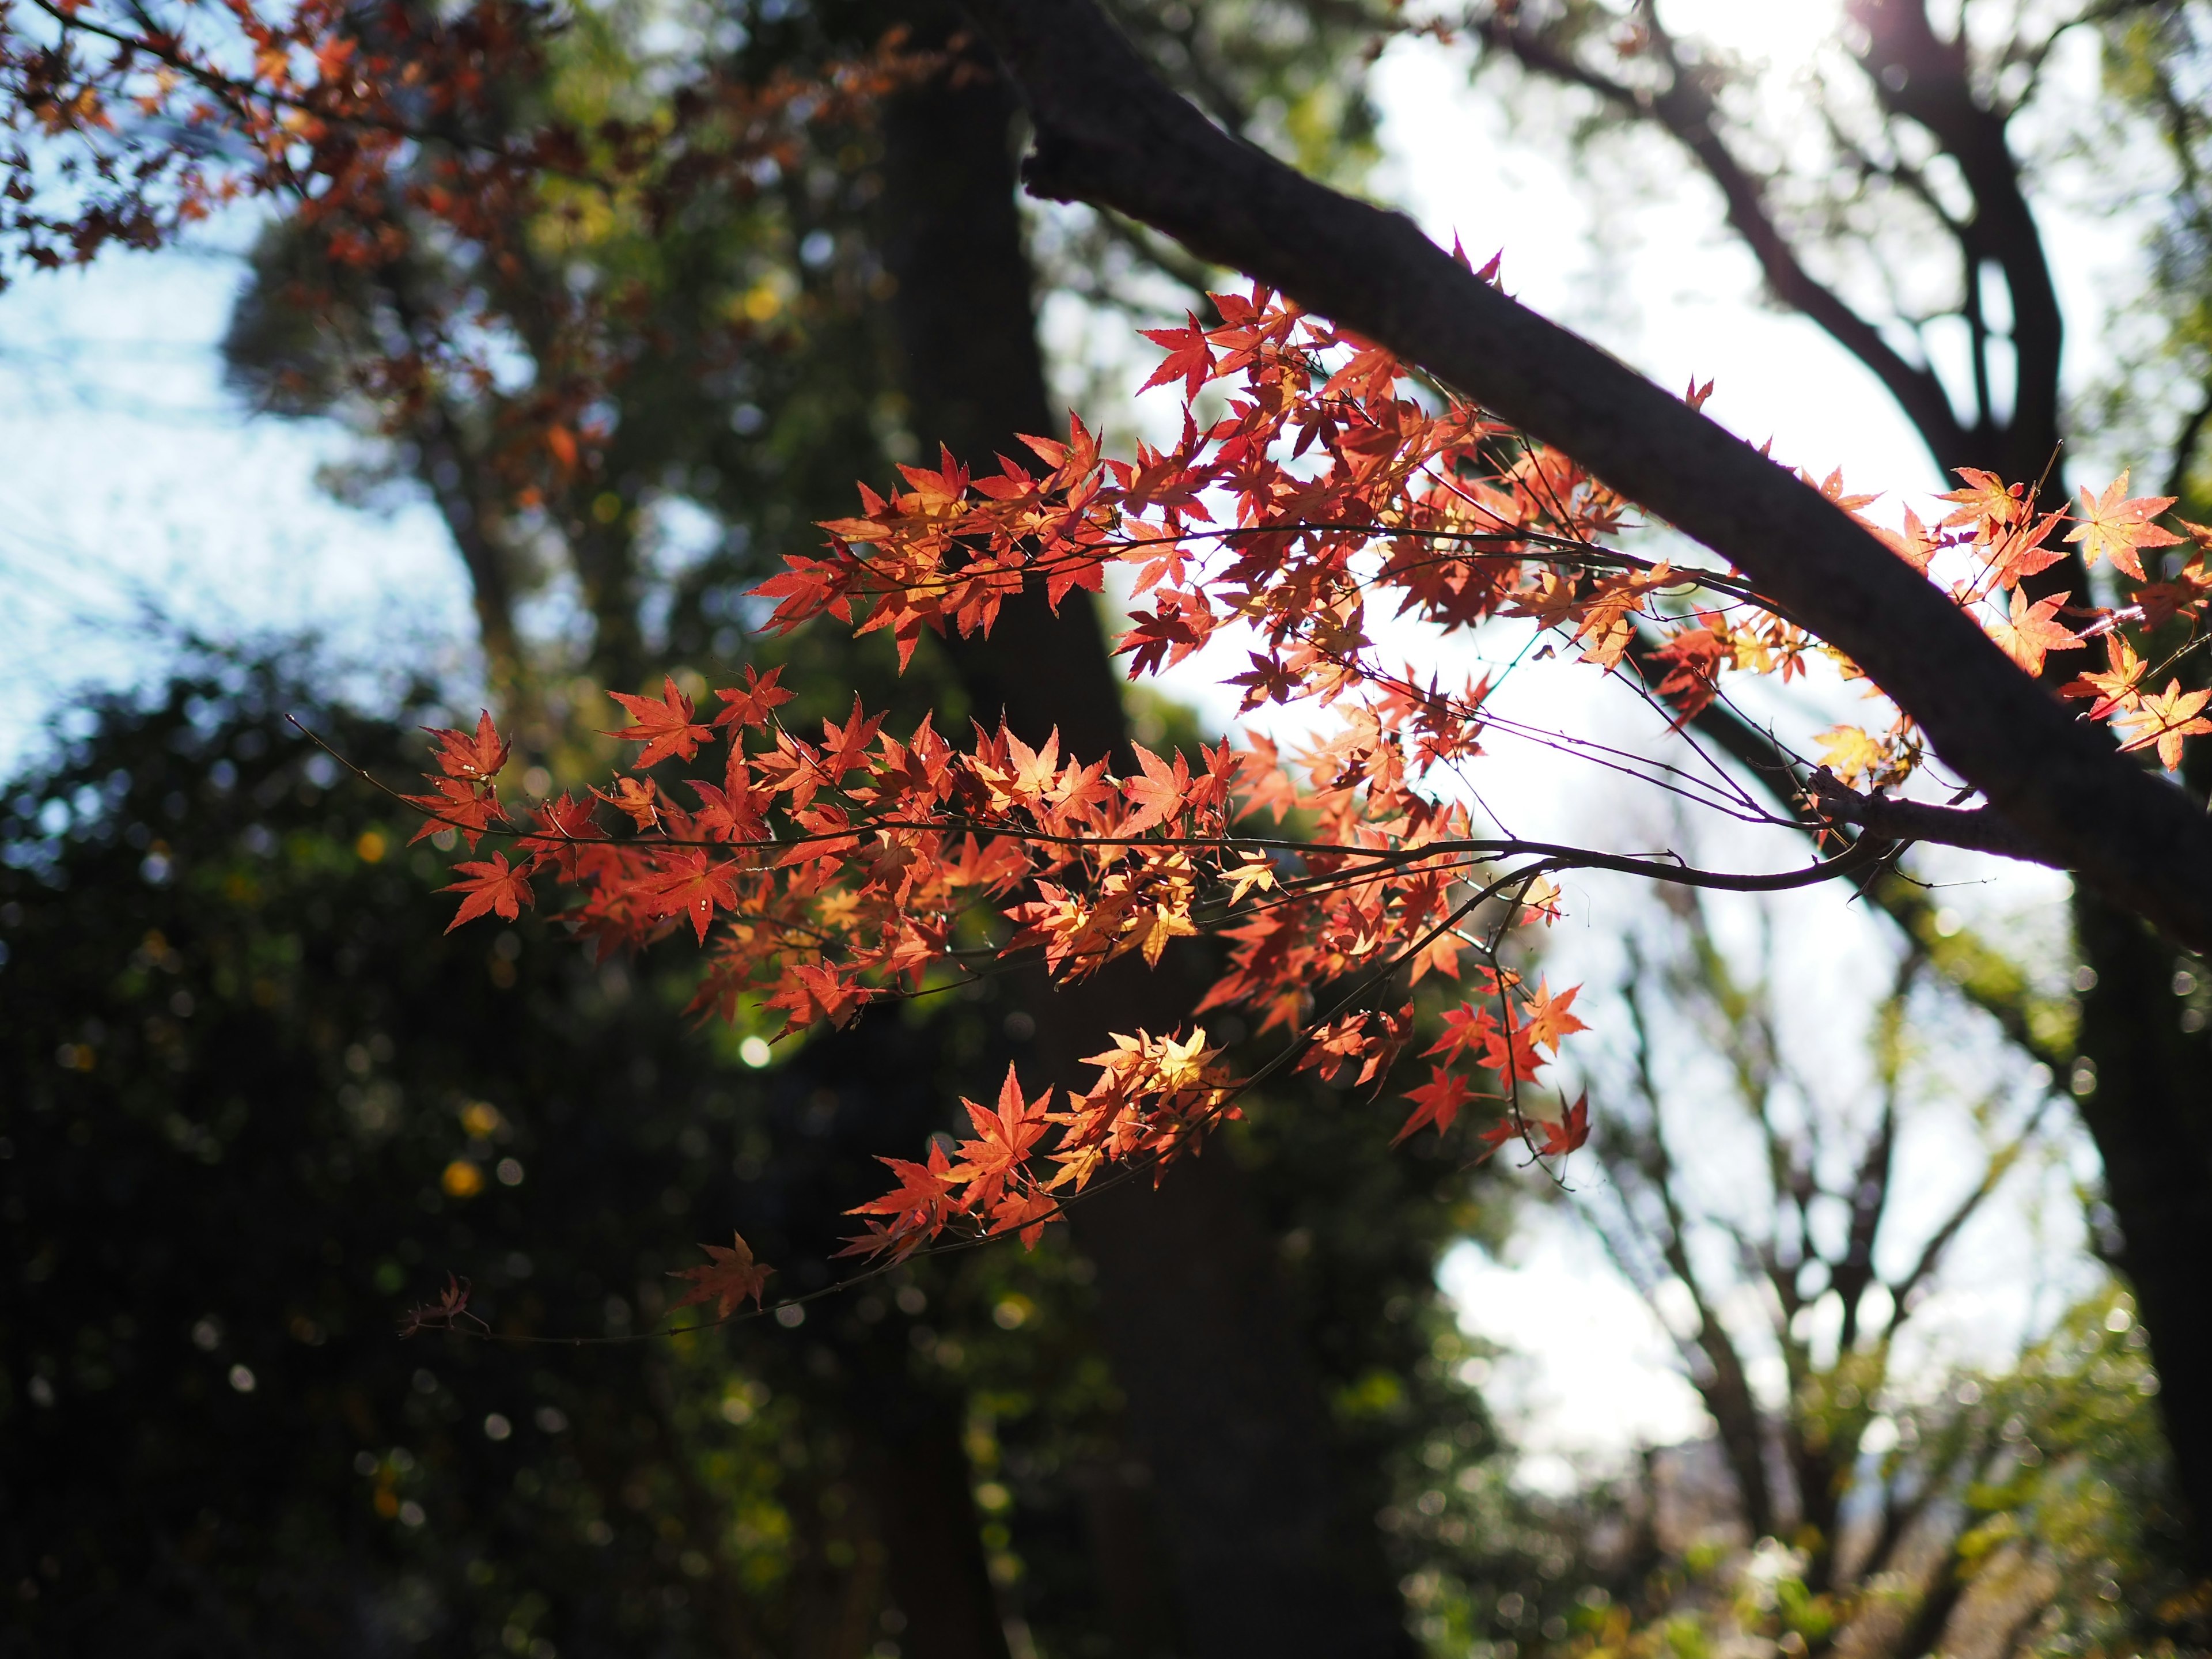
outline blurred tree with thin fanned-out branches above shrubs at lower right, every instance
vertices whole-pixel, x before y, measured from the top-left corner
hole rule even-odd
[[[1646,1641],[1909,1659],[2203,1641],[2128,1298],[2095,1285],[2015,1365],[1944,1365],[1920,1329],[2006,1190],[2079,1201],[2048,1068],[1936,1040],[1964,1011],[1909,949],[1854,1097],[1792,1053],[1774,920],[1745,969],[1705,900],[1668,909],[1628,951],[1601,1175],[1573,1208],[1679,1345],[1714,1438],[1648,1469],[1655,1571],[1584,1619],[1593,1650],[1639,1621]]]

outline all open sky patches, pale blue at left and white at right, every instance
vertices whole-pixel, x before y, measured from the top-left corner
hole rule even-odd
[[[1710,27],[1778,60],[1807,51],[1834,11],[1834,0],[1670,7],[1679,24]],[[1455,53],[1394,46],[1376,91],[1389,150],[1376,188],[1431,234],[1449,241],[1458,232],[1478,263],[1504,250],[1504,281],[1520,299],[1663,385],[1712,378],[1708,411],[1754,440],[1772,436],[1778,458],[1823,473],[1840,465],[1860,489],[1940,487],[1880,387],[1809,323],[1756,303],[1752,261],[1721,232],[1708,192],[1668,188],[1681,179],[1672,153],[1655,148],[1648,195],[1599,223],[1595,195],[1544,148],[1555,128],[1540,124],[1517,137],[1495,100],[1469,91]],[[2046,215],[2046,230],[2057,232],[2073,345],[2084,361],[2108,296],[2132,288],[2132,239],[2106,234],[2090,257],[2081,252],[2088,239],[2070,234],[2064,215]],[[0,770],[20,763],[40,719],[73,684],[159,670],[155,648],[131,628],[146,611],[212,637],[321,630],[347,657],[400,655],[438,672],[469,657],[467,588],[436,515],[411,507],[376,518],[334,504],[314,471],[345,453],[343,434],[248,418],[223,392],[215,343],[239,274],[234,259],[212,252],[113,254],[88,274],[27,279],[0,294],[0,624],[11,644],[0,657]],[[1046,325],[1048,336],[1077,338],[1073,319],[1048,316]],[[1571,697],[1579,708],[1593,697],[1590,679],[1559,666],[1531,675],[1526,692],[1537,703]],[[1234,706],[1192,672],[1177,690],[1217,717]],[[1542,750],[1502,750],[1484,765],[1486,794],[1509,803],[1500,816],[1522,834],[1615,847],[1672,836],[1663,816]],[[1781,865],[1796,863],[1803,847],[1721,834],[1708,836],[1701,854],[1717,865]],[[2011,936],[2062,936],[2053,878],[1964,856],[1953,863],[1944,874],[1969,885],[1947,902],[1962,914],[1997,920]],[[1557,929],[1546,969],[1553,982],[1588,978],[1601,987],[1619,964],[1621,905],[1635,900],[1599,880],[1568,883],[1568,898],[1571,920]],[[1807,1068],[1849,1097],[1865,1075],[1860,987],[1887,975],[1880,927],[1851,914],[1836,891],[1774,905],[1796,1011],[1792,1042]],[[1741,929],[1741,907],[1734,916]],[[1593,1000],[1595,991],[1584,1006]],[[1962,1053],[1960,1064],[1997,1060]],[[1927,1172],[1913,1212],[1940,1210],[1944,1175],[1964,1152],[1955,1124],[1933,1115],[1913,1159]],[[1595,1179],[1595,1170],[1577,1179]],[[2042,1188],[2059,1217],[2044,1243],[2031,1234],[2028,1186],[2022,1181],[2015,1201],[1962,1241],[1951,1290],[1918,1321],[1940,1334],[1940,1354],[2000,1358],[2031,1318],[2037,1276],[2084,1276],[2059,1175]],[[1473,1329],[1522,1352],[1498,1367],[1493,1394],[1520,1411],[1537,1451],[1610,1453],[1699,1431],[1661,1329],[1564,1214],[1531,1214],[1509,1263],[1464,1250],[1444,1279]]]

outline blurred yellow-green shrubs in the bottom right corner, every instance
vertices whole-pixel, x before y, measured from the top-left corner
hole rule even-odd
[[[2128,1298],[2101,1290],[2017,1367],[1958,1374],[1889,1418],[1896,1440],[1854,1491],[1924,1493],[1896,1566],[1843,1588],[1778,1540],[1708,1535],[1615,1599],[1590,1597],[1548,1650],[1692,1659],[1761,1644],[1785,1655],[2201,1652],[2212,1586],[2181,1568],[2183,1533],[2157,1418],[2157,1376]],[[1869,1546],[1860,1513],[1840,1553]]]

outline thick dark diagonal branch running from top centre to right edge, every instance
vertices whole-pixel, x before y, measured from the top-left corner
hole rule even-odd
[[[1537,316],[1411,219],[1241,144],[1091,0],[973,0],[1029,97],[1029,188],[1141,219],[1332,316],[1582,460],[1847,653],[2046,863],[2212,947],[2212,825],[2075,721],[1847,513],[1619,358]]]

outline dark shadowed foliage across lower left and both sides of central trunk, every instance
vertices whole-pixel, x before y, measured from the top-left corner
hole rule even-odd
[[[675,956],[440,936],[445,860],[288,712],[411,754],[212,661],[91,706],[4,796],[0,1652],[995,1652],[1004,1619],[1166,1650],[1150,1475],[1060,1230],[799,1325],[604,1340],[732,1223],[779,1290],[830,1283],[874,1155],[1022,1022],[964,1000],[754,1071],[684,1020]],[[1347,1489],[1402,1571],[1511,1573],[1413,1502],[1491,1449],[1431,1285],[1464,1183],[1305,1106],[1237,1150]],[[498,1338],[599,1340],[403,1340],[447,1272]]]

